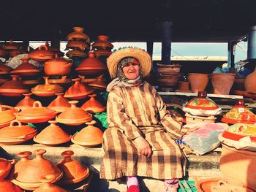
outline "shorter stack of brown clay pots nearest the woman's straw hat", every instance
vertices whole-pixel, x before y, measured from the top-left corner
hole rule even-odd
[[[108,36],[106,35],[99,35],[98,40],[91,45],[91,49],[94,50],[97,58],[111,55],[113,47],[113,44],[108,42]]]

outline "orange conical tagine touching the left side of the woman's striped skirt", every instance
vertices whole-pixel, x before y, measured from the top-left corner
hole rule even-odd
[[[95,120],[86,123],[88,126],[83,128],[78,134],[74,134],[71,141],[83,147],[93,147],[102,144],[103,132],[94,126],[95,123]]]

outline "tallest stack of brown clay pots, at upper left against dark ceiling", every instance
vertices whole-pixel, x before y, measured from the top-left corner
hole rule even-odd
[[[67,35],[68,43],[65,50],[69,50],[68,58],[86,58],[90,50],[90,39],[84,34],[84,28],[73,27],[73,32]]]

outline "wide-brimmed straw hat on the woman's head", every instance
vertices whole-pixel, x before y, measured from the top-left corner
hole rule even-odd
[[[134,57],[140,62],[141,76],[146,77],[151,70],[151,57],[142,49],[139,48],[124,48],[116,50],[112,53],[107,60],[108,71],[112,79],[117,77],[117,65],[122,58]]]

